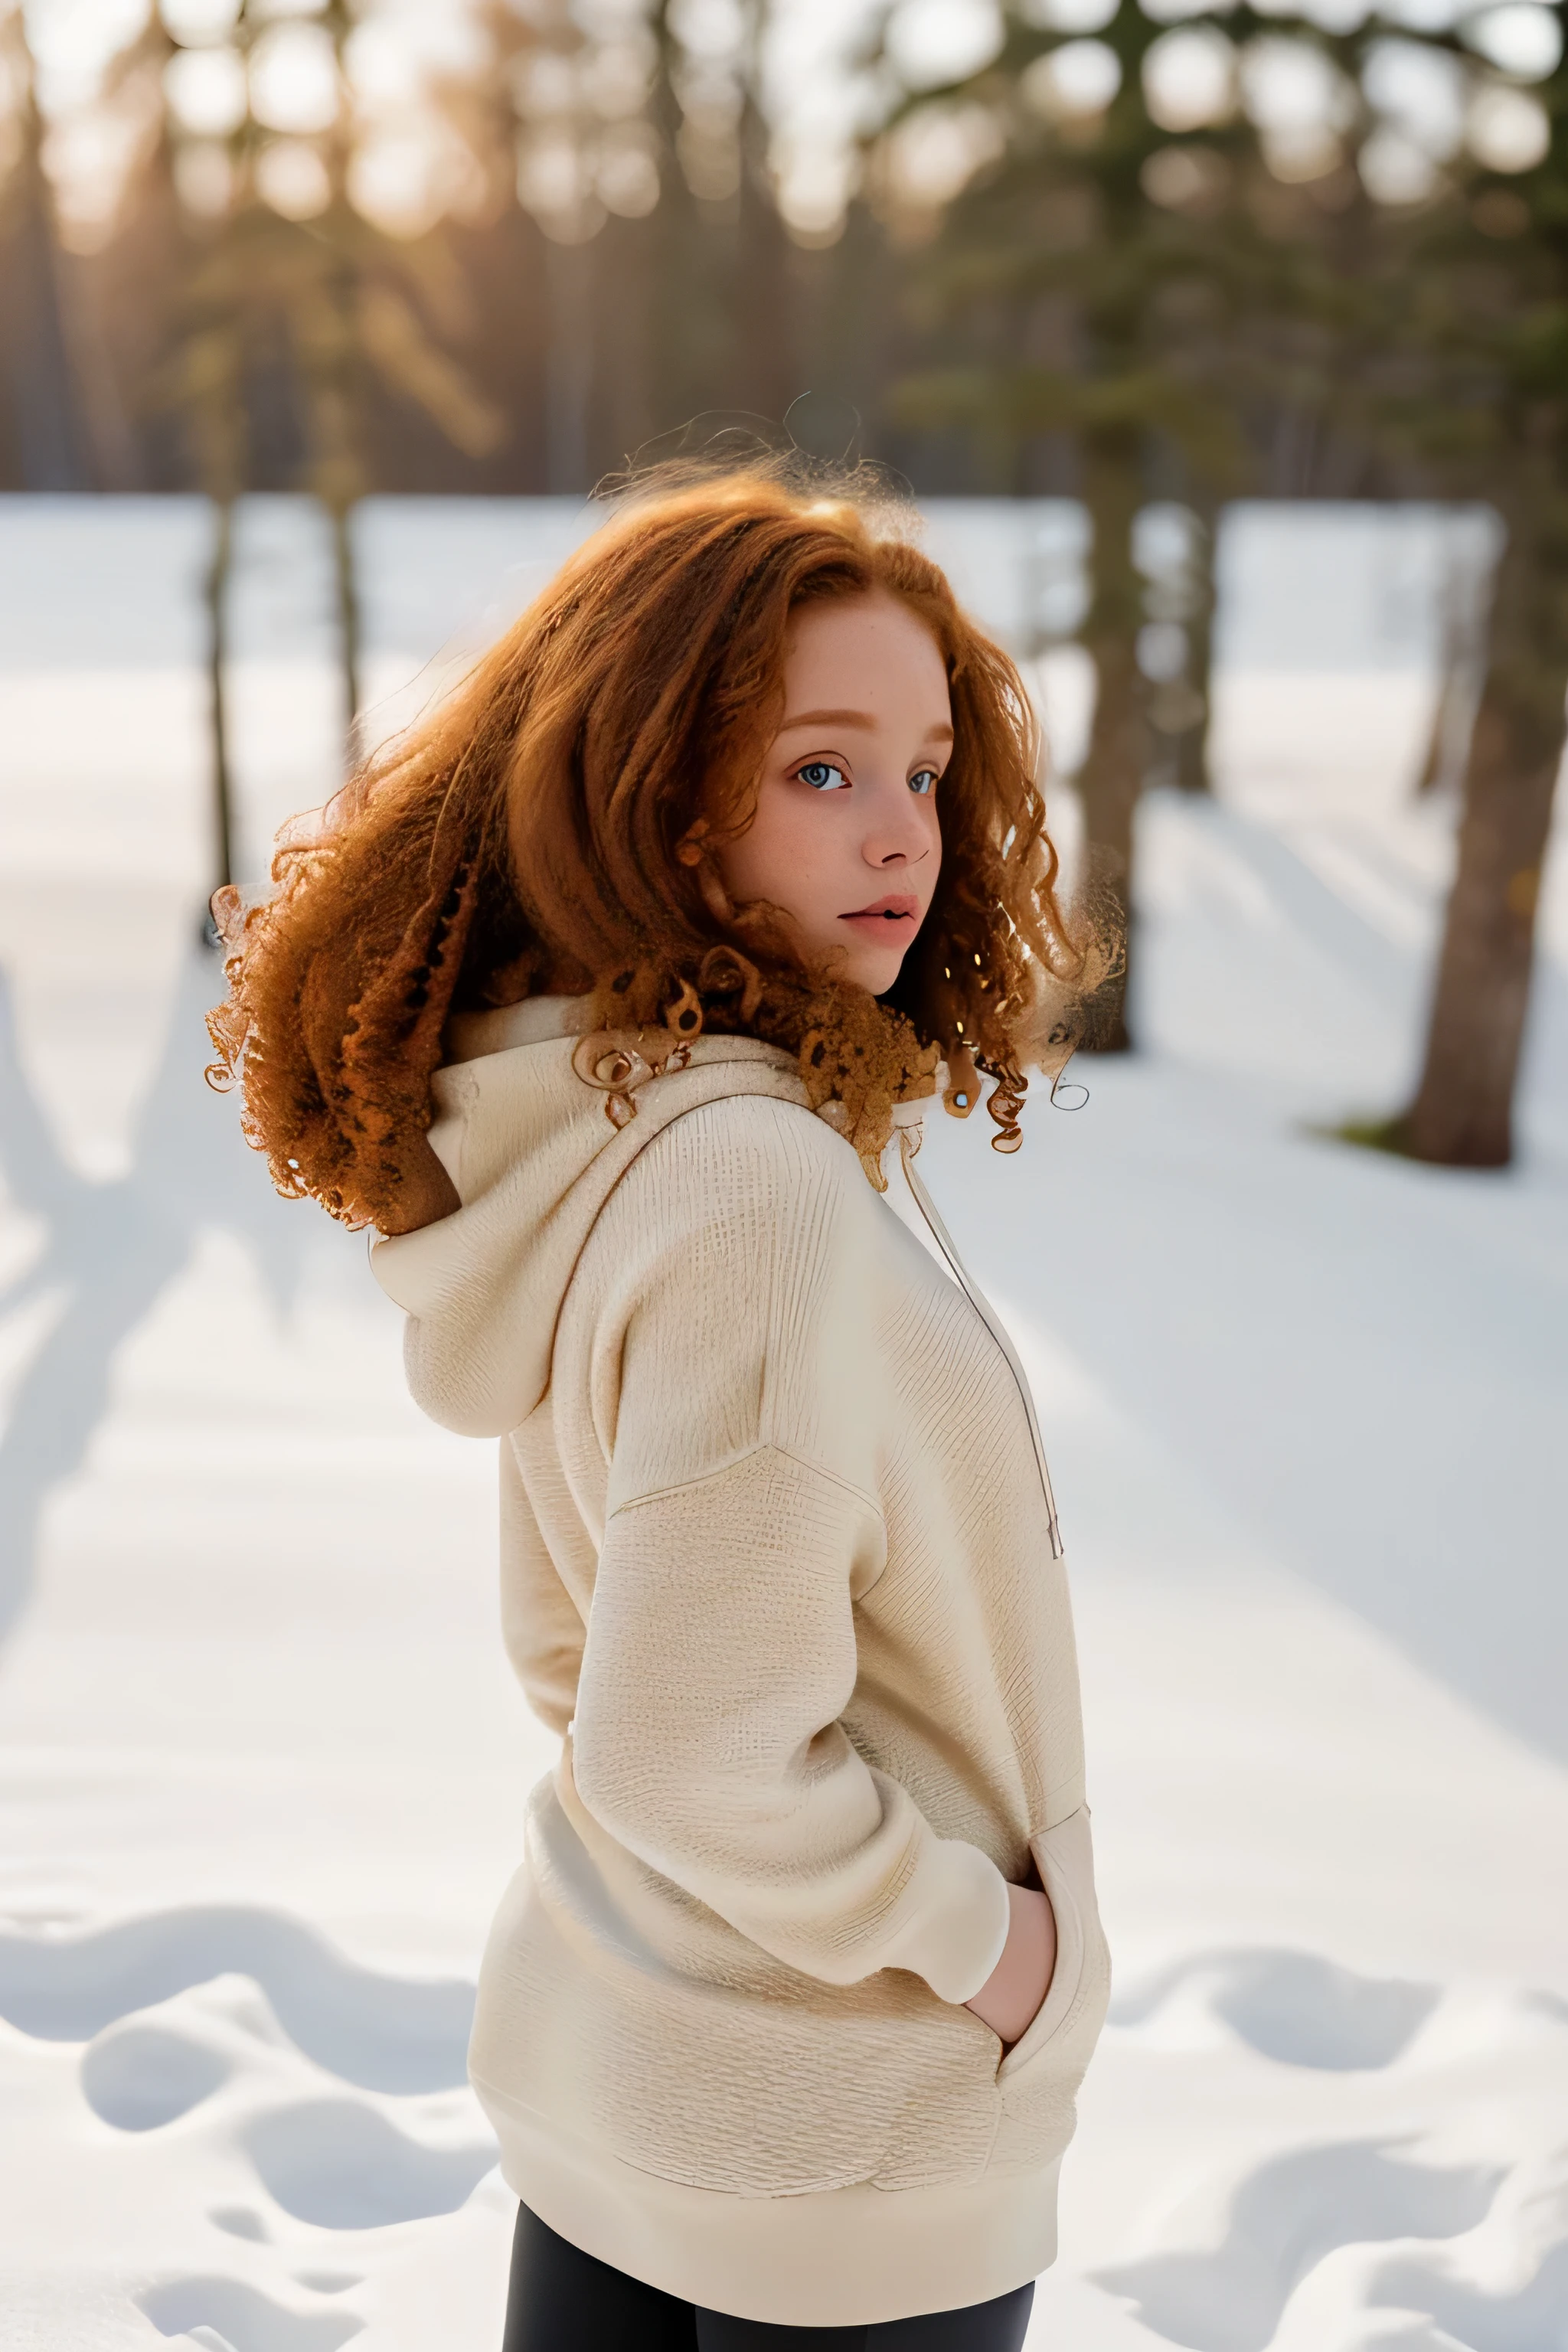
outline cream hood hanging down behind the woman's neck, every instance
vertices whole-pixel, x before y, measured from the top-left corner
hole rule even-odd
[[[686,1065],[637,1087],[635,1117],[614,1127],[607,1096],[571,1068],[585,1014],[585,997],[531,997],[451,1023],[456,1058],[433,1080],[430,1148],[461,1209],[371,1249],[376,1282],[409,1317],[414,1402],[463,1437],[503,1437],[545,1395],[583,1244],[654,1136],[729,1094],[809,1108],[792,1054],[698,1037]]]

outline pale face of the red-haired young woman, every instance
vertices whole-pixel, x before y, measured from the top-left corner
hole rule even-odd
[[[882,995],[931,906],[950,757],[947,670],[910,607],[879,590],[802,604],[757,814],[717,854],[724,889],[780,908],[806,962],[832,955]]]

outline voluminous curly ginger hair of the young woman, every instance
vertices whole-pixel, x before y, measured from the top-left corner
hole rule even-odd
[[[219,891],[228,1002],[214,1084],[280,1192],[407,1232],[456,1192],[425,1141],[451,1014],[595,993],[618,1030],[748,1030],[799,1054],[816,1105],[872,1181],[900,1096],[947,1061],[947,1108],[997,1084],[1020,1141],[1025,1058],[1056,1070],[1084,974],[1058,906],[1039,734],[1009,656],[907,536],[849,494],[762,468],[635,485],[611,520],[310,835],[287,828],[273,896]],[[896,988],[806,969],[766,906],[731,906],[715,851],[745,830],[783,717],[790,616],[900,597],[947,666],[954,748],[943,868]]]

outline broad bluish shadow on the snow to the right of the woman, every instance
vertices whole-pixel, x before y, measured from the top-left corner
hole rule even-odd
[[[1225,809],[1197,821],[1267,908],[1229,929],[1204,908],[1208,983],[1229,971],[1269,1004],[1312,1009],[1331,969],[1375,1011],[1418,948],[1375,936],[1262,828]],[[1159,953],[1152,922],[1150,990]],[[1281,1068],[1288,1080],[1288,1056]],[[1544,955],[1530,1070],[1521,1164],[1500,1174],[1326,1141],[1288,1089],[1171,1030],[1086,1073],[1093,1112],[1072,1134],[1037,1117],[1023,1181],[987,1152],[959,1178],[940,1120],[933,1157],[952,1152],[969,1185],[959,1232],[980,1282],[1060,1336],[1225,1519],[1568,1762],[1568,981]],[[1180,1573],[1159,1543],[1147,1566]]]

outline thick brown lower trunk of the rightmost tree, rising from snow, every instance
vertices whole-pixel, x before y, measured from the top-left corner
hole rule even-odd
[[[1497,572],[1427,1063],[1415,1101],[1385,1134],[1415,1160],[1493,1169],[1514,1155],[1514,1082],[1566,696],[1568,515],[1552,506],[1530,513],[1519,501]]]

